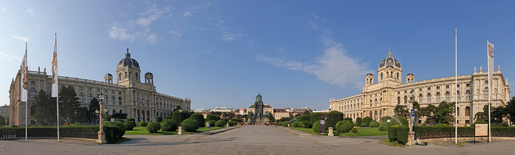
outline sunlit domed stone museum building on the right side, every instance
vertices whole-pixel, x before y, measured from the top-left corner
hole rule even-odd
[[[472,69],[472,68],[471,68]],[[393,109],[397,105],[409,107],[408,94],[410,91],[415,95],[421,107],[429,104],[438,105],[441,101],[458,102],[458,124],[467,126],[473,123],[474,115],[483,112],[483,107],[488,105],[488,90],[492,90],[492,107],[506,106],[510,99],[508,82],[504,80],[500,67],[493,71],[493,81],[488,81],[488,71],[474,72],[471,75],[458,76],[458,83],[455,84],[455,77],[442,77],[428,80],[416,81],[413,73],[402,76],[401,63],[392,57],[388,57],[379,63],[375,82],[374,75],[369,73],[365,76],[365,86],[361,94],[330,99],[329,106],[332,110],[344,113],[344,117],[351,117],[354,121],[357,117],[372,117],[377,120],[383,116],[392,116]],[[405,79],[405,82],[402,82]],[[488,83],[492,88],[488,88]],[[458,92],[456,93],[456,89]],[[424,123],[422,117],[415,123]]]

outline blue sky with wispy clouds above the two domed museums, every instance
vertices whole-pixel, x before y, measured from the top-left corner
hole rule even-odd
[[[28,43],[30,69],[49,68],[57,33],[59,76],[103,81],[129,48],[157,91],[192,108],[328,109],[361,93],[391,48],[403,77],[458,75],[495,66],[515,78],[512,1],[0,1],[0,105]],[[486,69],[484,69],[486,70]],[[377,78],[377,77],[376,77]],[[375,79],[377,81],[377,79]],[[404,81],[404,80],[403,80]]]

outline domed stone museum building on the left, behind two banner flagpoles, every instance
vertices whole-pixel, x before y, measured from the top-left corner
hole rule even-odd
[[[20,73],[19,70],[9,88],[10,125],[25,124],[25,102],[20,101]],[[29,124],[36,122],[32,117],[36,111],[31,106],[35,102],[38,91],[45,90],[49,94],[52,91],[52,73],[49,72],[49,74],[47,75],[46,68],[40,72],[39,67],[38,71],[29,71],[27,74]],[[103,99],[104,107],[109,109],[109,114],[127,113],[128,118],[135,118],[137,122],[142,120],[150,122],[156,116],[169,116],[177,106],[181,106],[185,111],[190,111],[190,98],[178,98],[158,93],[152,73],[142,73],[140,64],[130,57],[128,49],[125,58],[117,62],[115,75],[106,74],[104,81],[64,76],[58,78],[60,87],[71,85],[75,89],[81,107],[88,107],[92,98],[96,97]],[[116,79],[116,83],[113,83],[113,78]],[[103,95],[100,96],[100,94]],[[60,124],[63,124],[65,119],[60,118]]]

